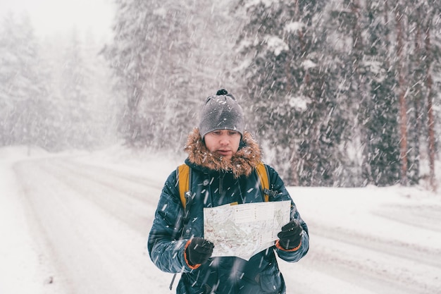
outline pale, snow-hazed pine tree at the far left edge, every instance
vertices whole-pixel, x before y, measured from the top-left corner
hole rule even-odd
[[[6,16],[0,50],[1,143],[42,144],[47,92],[39,70],[39,47],[26,15],[20,22]]]

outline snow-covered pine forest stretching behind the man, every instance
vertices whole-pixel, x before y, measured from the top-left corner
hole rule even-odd
[[[115,0],[106,44],[0,27],[0,147],[182,152],[225,88],[287,185],[435,190],[441,2]]]

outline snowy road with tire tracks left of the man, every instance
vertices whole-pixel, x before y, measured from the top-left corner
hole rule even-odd
[[[23,179],[32,238],[64,293],[148,293],[159,284],[167,292],[170,276],[151,275],[144,250],[159,185],[66,159],[13,170]]]

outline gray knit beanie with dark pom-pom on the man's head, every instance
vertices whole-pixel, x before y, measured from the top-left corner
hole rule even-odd
[[[245,128],[242,107],[232,94],[218,90],[215,96],[206,99],[201,111],[199,133],[201,137],[213,130],[235,130],[243,135]]]

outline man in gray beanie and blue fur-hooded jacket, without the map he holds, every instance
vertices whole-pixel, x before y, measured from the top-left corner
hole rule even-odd
[[[286,292],[275,257],[297,262],[309,249],[308,227],[297,212],[278,173],[266,166],[269,201],[291,201],[290,222],[280,228],[272,247],[251,257],[211,257],[213,243],[204,239],[204,207],[263,202],[256,166],[261,149],[244,130],[242,108],[225,90],[208,97],[199,128],[190,133],[185,164],[191,168],[190,195],[180,200],[176,172],[161,192],[149,234],[151,260],[162,271],[182,273],[178,294],[259,294]]]

